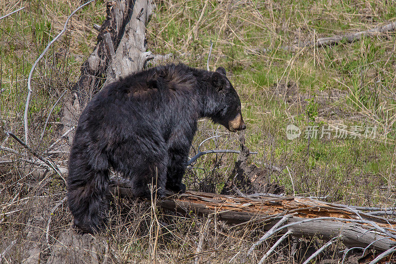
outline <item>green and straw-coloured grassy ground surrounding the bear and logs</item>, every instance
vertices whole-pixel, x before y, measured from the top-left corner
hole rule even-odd
[[[149,50],[173,53],[173,61],[205,68],[213,42],[209,67],[225,67],[241,97],[247,122],[246,145],[258,152],[251,161],[257,166],[265,163],[280,167],[282,172],[268,172],[267,176],[271,182],[284,185],[286,195],[316,196],[356,206],[395,205],[396,34],[296,52],[282,49],[395,21],[394,0],[169,0],[157,1],[156,5],[148,24]],[[0,142],[2,147],[16,151],[22,151],[22,147],[3,132],[12,131],[23,138],[31,65],[79,2],[0,0],[0,14],[22,6],[26,8],[0,20]],[[34,72],[29,129],[31,146],[39,153],[58,137],[61,105],[55,107],[44,140],[39,140],[50,106],[77,80],[81,63],[96,44],[93,24],[100,25],[104,16],[102,0],[80,10],[69,23],[67,34]],[[301,131],[297,139],[287,138],[290,124]],[[309,137],[307,131],[312,127],[319,135],[322,129],[331,133],[323,138]],[[375,134],[364,135],[374,128]],[[239,148],[236,134],[208,120],[199,122],[193,147],[214,135],[222,137],[206,142],[204,149]],[[23,157],[6,151],[1,155],[23,162]],[[67,157],[53,159],[64,165]],[[186,184],[190,189],[220,191],[235,159],[233,154],[201,157],[187,172]],[[17,248],[26,244],[25,225],[33,209],[37,210],[32,199],[42,197],[42,214],[48,219],[50,210],[46,208],[63,199],[65,188],[57,179],[37,183],[29,175],[13,172],[0,175],[0,192],[0,253],[16,241],[18,247],[8,252],[6,260],[19,262],[23,256]],[[124,201],[113,210],[114,228],[105,238],[120,262],[148,262],[155,257],[164,263],[191,263],[196,258],[193,253],[206,218],[193,214],[169,217],[168,212],[157,211],[161,220],[169,223],[169,230],[161,230],[159,244],[153,248],[153,212],[149,207]],[[53,218],[52,242],[71,222],[64,205]],[[200,255],[202,261],[228,262],[239,249],[262,235],[260,228],[228,228],[212,222]],[[309,243],[318,246],[321,242]],[[271,243],[258,249],[255,257],[261,258],[267,246]],[[288,247],[285,244],[280,248],[271,261],[293,263]],[[334,248],[329,252],[331,255]]]

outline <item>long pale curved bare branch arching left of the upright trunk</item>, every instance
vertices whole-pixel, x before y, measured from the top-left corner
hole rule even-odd
[[[86,6],[87,4],[93,2],[94,0],[90,0],[88,2],[86,2],[85,4],[79,6],[76,10],[74,10],[66,19],[66,22],[63,26],[62,31],[47,45],[46,49],[44,50],[43,53],[40,54],[39,58],[34,62],[32,69],[29,72],[29,78],[28,78],[28,96],[26,98],[26,105],[25,105],[25,114],[23,116],[23,120],[24,120],[24,125],[25,125],[25,143],[26,145],[29,145],[29,141],[28,141],[28,134],[29,134],[29,130],[28,130],[28,110],[29,110],[29,102],[30,102],[30,97],[32,95],[32,88],[31,88],[31,79],[32,79],[32,75],[33,75],[33,71],[36,68],[37,63],[39,63],[39,61],[44,57],[44,55],[48,52],[49,47],[51,47],[51,45],[66,31],[67,29],[67,23],[69,22],[70,18],[72,17],[72,15],[74,15],[78,10],[80,10],[81,8],[83,8],[84,6]]]

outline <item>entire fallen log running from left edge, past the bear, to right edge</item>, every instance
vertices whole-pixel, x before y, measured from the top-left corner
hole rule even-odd
[[[52,176],[61,178],[51,167],[27,162],[24,167],[15,167],[12,161],[0,159],[0,172],[18,169],[25,175],[30,173],[36,179]],[[67,168],[59,167],[63,178]],[[129,181],[116,175],[110,177],[111,192],[123,197],[133,197]],[[156,205],[167,210],[191,211],[211,215],[230,224],[265,223],[269,230],[285,215],[285,228],[279,232],[290,232],[296,237],[339,237],[347,247],[375,248],[386,251],[396,246],[396,221],[368,214],[365,210],[347,205],[331,204],[310,198],[295,196],[271,196],[266,194],[220,195],[187,191],[185,194],[170,194],[167,199],[158,200]],[[379,210],[392,210],[380,209]]]

